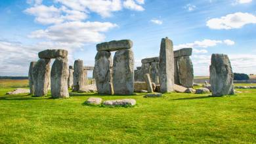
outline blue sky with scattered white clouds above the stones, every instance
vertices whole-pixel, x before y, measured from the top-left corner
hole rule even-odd
[[[0,1],[0,75],[27,75],[37,52],[65,48],[69,63],[94,65],[96,44],[134,43],[135,66],[158,56],[161,38],[192,47],[194,75],[209,75],[211,54],[228,54],[236,73],[256,74],[255,0]]]

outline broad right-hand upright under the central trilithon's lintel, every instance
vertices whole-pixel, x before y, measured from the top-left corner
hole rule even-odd
[[[133,94],[134,58],[131,49],[119,50],[114,56],[114,94]]]

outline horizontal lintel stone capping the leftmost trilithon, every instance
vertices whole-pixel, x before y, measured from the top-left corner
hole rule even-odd
[[[55,50],[43,50],[38,53],[39,58],[57,58],[61,56],[62,58],[68,56],[68,50],[55,49]]]

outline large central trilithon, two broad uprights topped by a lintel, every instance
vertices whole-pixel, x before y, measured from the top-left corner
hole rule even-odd
[[[96,45],[95,81],[99,94],[133,94],[134,54],[131,40]],[[117,50],[117,51],[116,51]],[[114,62],[111,52],[116,51]]]

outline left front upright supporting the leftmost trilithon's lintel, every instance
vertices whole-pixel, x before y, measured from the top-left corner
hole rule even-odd
[[[32,70],[33,84],[35,86],[34,96],[45,96],[50,81],[50,63],[51,59],[41,58],[35,63]]]

